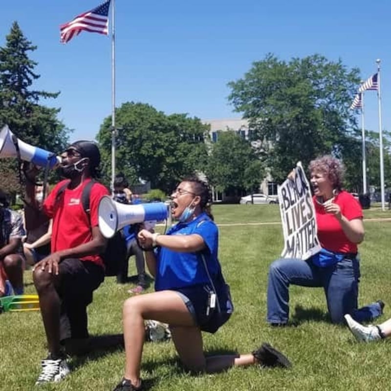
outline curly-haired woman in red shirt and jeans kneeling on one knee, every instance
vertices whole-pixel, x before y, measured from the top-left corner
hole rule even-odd
[[[357,308],[360,262],[357,246],[364,240],[363,213],[354,197],[342,189],[345,168],[326,155],[309,164],[320,253],[306,261],[279,259],[269,268],[267,322],[284,326],[289,318],[289,285],[323,287],[332,323],[343,323],[350,314],[359,322],[383,312],[377,301]]]

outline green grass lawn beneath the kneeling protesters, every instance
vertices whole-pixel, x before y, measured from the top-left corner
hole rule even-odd
[[[215,335],[204,334],[205,350],[249,352],[267,341],[291,359],[291,370],[233,368],[220,374],[192,376],[184,372],[171,342],[147,343],[142,377],[149,390],[389,390],[389,344],[357,344],[348,329],[331,325],[322,289],[291,287],[291,320],[297,326],[271,328],[266,324],[267,270],[282,250],[278,205],[216,205],[220,230],[219,258],[231,285],[235,304],[232,318]],[[391,317],[390,211],[365,211],[366,239],[360,246],[359,304],[382,299],[381,321]],[[270,223],[239,225],[240,223]],[[238,225],[228,225],[228,224]],[[135,271],[133,258],[131,272]],[[26,293],[34,293],[31,271],[25,272]],[[89,306],[93,335],[122,332],[121,310],[130,285],[107,278]],[[152,286],[149,288],[152,290]],[[40,359],[46,354],[39,312],[0,315],[0,390],[34,390]],[[124,370],[122,349],[98,350],[71,361],[72,373],[62,383],[41,390],[111,391]]]

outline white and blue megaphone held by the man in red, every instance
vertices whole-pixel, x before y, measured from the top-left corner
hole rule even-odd
[[[0,130],[0,158],[19,157],[15,144],[17,144],[20,157],[24,161],[34,163],[41,167],[46,167],[48,164],[50,168],[53,168],[57,163],[61,162],[59,156],[19,140],[19,138],[9,130],[7,125],[3,126]]]

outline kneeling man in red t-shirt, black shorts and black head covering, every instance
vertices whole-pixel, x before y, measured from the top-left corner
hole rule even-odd
[[[53,219],[51,253],[33,268],[48,355],[42,360],[36,384],[61,381],[68,373],[65,351],[88,340],[87,305],[103,282],[105,267],[100,256],[107,240],[98,227],[98,205],[109,192],[99,182],[90,190],[87,214],[83,189],[99,174],[100,152],[95,143],[76,141],[62,153],[59,182],[43,201],[43,211]],[[26,201],[37,207],[36,170],[25,172]]]

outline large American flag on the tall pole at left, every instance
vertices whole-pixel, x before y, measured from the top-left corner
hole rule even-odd
[[[72,21],[62,24],[60,26],[61,42],[67,43],[83,30],[108,35],[110,1],[108,0],[91,11],[78,15]]]

